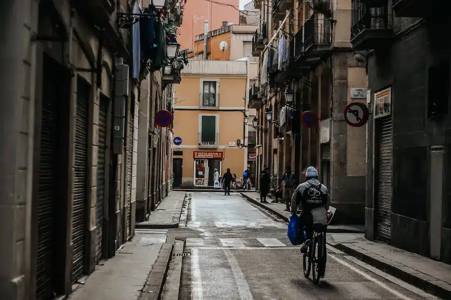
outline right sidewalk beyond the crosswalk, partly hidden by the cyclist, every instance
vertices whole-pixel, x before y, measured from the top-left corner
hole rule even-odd
[[[249,202],[252,202],[262,208],[265,208],[272,214],[279,218],[290,221],[291,212],[286,211],[286,205],[283,203],[271,203],[271,199],[266,198],[269,203],[260,203],[260,193],[241,193],[241,196]],[[337,213],[340,213],[339,211]],[[333,223],[333,220],[332,220]],[[347,233],[362,233],[365,232],[365,225],[329,225],[328,232],[347,232]]]

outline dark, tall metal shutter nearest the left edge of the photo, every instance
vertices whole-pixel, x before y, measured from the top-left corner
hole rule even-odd
[[[46,69],[46,68],[44,68]],[[44,76],[41,143],[38,167],[36,299],[53,298],[54,204],[57,149],[57,108]]]

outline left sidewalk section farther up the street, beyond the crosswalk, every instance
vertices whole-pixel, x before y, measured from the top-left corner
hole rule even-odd
[[[186,192],[171,190],[151,212],[149,221],[136,223],[137,229],[160,229],[179,227],[180,214]]]

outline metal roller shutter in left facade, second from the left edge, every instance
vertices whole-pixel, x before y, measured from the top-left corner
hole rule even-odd
[[[90,87],[79,78],[75,120],[74,202],[72,210],[73,281],[76,281],[83,274],[85,261],[89,89]]]

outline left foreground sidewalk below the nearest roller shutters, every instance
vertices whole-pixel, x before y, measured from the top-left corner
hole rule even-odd
[[[94,273],[79,279],[67,299],[157,300],[174,243],[174,238],[166,240],[164,234],[136,233],[116,256],[101,260]]]

